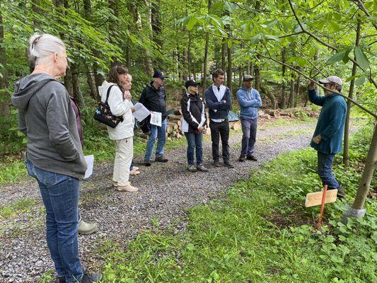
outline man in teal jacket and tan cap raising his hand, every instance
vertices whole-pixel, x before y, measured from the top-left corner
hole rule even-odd
[[[347,113],[347,103],[339,95],[343,83],[342,79],[337,76],[329,76],[320,80],[319,83],[331,91],[325,89],[325,96],[319,96],[315,83],[311,81],[308,84],[309,100],[322,106],[311,147],[318,152],[318,175],[323,185],[327,185],[328,190],[337,189],[337,197],[344,199],[346,197],[344,189],[337,182],[331,170],[335,154],[342,151],[344,122]]]

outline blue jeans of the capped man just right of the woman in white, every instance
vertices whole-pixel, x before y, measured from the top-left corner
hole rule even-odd
[[[156,125],[151,125],[151,134],[149,135],[149,139],[146,142],[146,151],[144,155],[144,160],[151,160],[154,148],[154,141],[157,141],[157,149],[156,149],[156,157],[163,156],[163,148],[165,147],[166,143],[166,126],[168,125],[168,121],[165,119],[161,122],[161,127],[157,127]]]

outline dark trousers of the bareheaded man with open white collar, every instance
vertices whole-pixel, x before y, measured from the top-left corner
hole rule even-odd
[[[221,137],[221,145],[223,148],[223,159],[228,161],[231,154],[229,154],[229,122],[224,120],[223,122],[213,122],[210,120],[209,128],[211,129],[212,139],[212,157],[214,160],[219,160],[219,139]]]

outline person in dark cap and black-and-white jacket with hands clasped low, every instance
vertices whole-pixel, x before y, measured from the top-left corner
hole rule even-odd
[[[196,81],[186,81],[185,87],[187,91],[180,100],[180,108],[182,111],[182,132],[185,133],[187,139],[187,169],[190,172],[204,171],[207,168],[203,165],[203,131],[206,127],[207,117],[204,109],[204,101],[199,95]],[[196,148],[197,166],[194,163],[194,150]]]

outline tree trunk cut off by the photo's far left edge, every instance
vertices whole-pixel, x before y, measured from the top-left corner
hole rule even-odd
[[[6,71],[6,50],[1,9],[0,2],[0,117],[7,117],[9,115],[9,93],[4,89],[8,88],[8,72]]]

